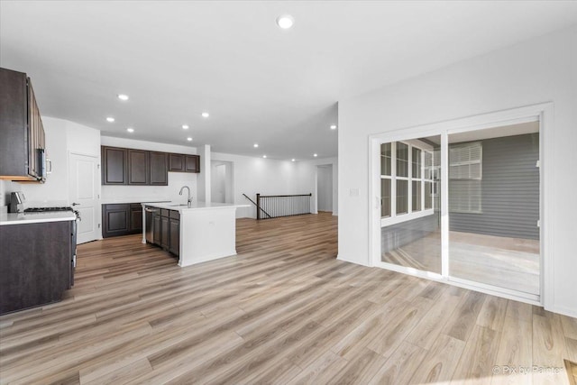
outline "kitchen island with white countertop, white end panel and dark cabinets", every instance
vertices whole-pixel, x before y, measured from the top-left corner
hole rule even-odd
[[[247,206],[142,203],[142,243],[156,243],[178,255],[180,267],[236,255],[236,209]]]

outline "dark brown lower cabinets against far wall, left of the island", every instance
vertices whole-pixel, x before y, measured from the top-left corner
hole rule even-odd
[[[138,234],[142,232],[140,203],[102,205],[102,237]]]

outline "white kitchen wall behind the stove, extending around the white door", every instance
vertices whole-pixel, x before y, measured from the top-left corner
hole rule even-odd
[[[23,191],[29,206],[35,204],[69,204],[69,152],[94,155],[100,159],[100,131],[64,119],[42,116],[46,135],[46,156],[52,161],[52,172],[45,183],[2,182],[2,197],[12,191]],[[2,202],[7,205],[9,200]]]

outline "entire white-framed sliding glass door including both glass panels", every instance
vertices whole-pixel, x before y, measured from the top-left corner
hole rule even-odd
[[[541,305],[548,108],[372,136],[373,265]]]

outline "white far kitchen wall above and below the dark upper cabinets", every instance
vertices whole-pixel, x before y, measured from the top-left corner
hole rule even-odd
[[[164,144],[157,142],[136,141],[133,139],[114,138],[102,136],[100,139],[104,146],[124,147],[129,149],[163,151],[196,154],[195,147],[180,146],[176,144]],[[100,151],[100,150],[98,150]],[[201,172],[203,170],[201,169]],[[179,190],[188,186],[197,202],[197,174],[190,172],[169,172],[168,186],[102,186],[102,203],[114,202],[145,202],[152,200],[176,200],[187,202],[187,197],[179,196]],[[186,194],[183,193],[183,194]]]

